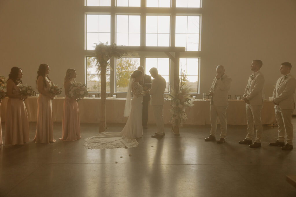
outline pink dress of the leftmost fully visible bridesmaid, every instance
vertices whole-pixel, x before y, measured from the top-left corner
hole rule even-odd
[[[20,86],[14,83],[12,93],[20,95]],[[29,117],[22,99],[8,99],[5,122],[6,145],[24,144],[29,141]]]

